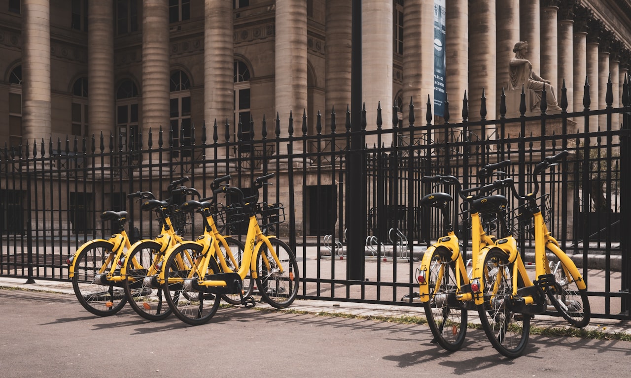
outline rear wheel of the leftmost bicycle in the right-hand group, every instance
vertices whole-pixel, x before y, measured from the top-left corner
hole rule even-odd
[[[446,350],[455,352],[464,343],[468,314],[463,303],[456,299],[456,269],[449,249],[439,247],[433,251],[427,285],[430,299],[423,306],[434,340]]]

